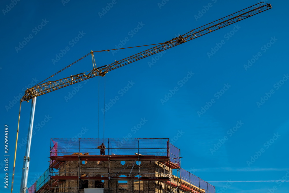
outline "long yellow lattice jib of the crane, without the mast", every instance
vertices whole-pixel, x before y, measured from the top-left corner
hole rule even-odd
[[[191,30],[184,35],[179,35],[179,37],[176,37],[170,41],[166,41],[164,43],[161,43],[158,46],[152,47],[151,49],[147,49],[143,52],[140,52],[138,54],[134,54],[133,56],[129,56],[129,57],[124,58],[122,60],[118,60],[118,61],[115,60],[114,63],[111,63],[109,65],[94,68],[91,71],[89,71],[87,74],[80,73],[80,74],[76,74],[76,75],[66,77],[66,78],[63,78],[60,80],[48,81],[48,82],[45,82],[43,84],[37,84],[34,87],[27,89],[25,91],[25,94],[24,94],[23,98],[21,99],[21,101],[29,101],[30,99],[32,99],[36,96],[40,96],[40,95],[43,95],[45,93],[55,91],[55,90],[60,89],[62,87],[66,87],[66,86],[69,86],[71,84],[75,84],[77,82],[87,80],[89,78],[93,78],[95,76],[105,76],[105,74],[111,70],[125,66],[125,65],[130,64],[130,63],[133,63],[137,60],[146,58],[146,57],[151,56],[153,54],[156,54],[158,52],[162,52],[162,51],[169,49],[171,47],[175,47],[175,46],[180,45],[182,43],[188,42],[194,38],[198,38],[198,37],[203,36],[205,34],[208,34],[210,32],[216,31],[218,29],[221,29],[223,27],[226,27],[228,25],[231,25],[233,23],[236,23],[238,21],[241,21],[243,19],[251,17],[255,14],[264,12],[264,11],[269,10],[271,8],[272,8],[272,6],[270,5],[270,3],[264,3],[264,2],[257,3],[251,7],[248,7],[246,9],[243,9],[241,11],[238,11],[236,13],[233,13],[231,15],[228,15],[226,17],[223,17],[221,19],[218,19],[216,21],[208,23],[206,25],[203,25],[203,26],[196,28],[194,30]],[[89,53],[89,54],[91,54],[91,53]],[[89,54],[87,54],[87,55],[89,55]],[[79,60],[81,60],[81,59],[79,59]],[[74,63],[76,63],[76,62],[74,62]]]

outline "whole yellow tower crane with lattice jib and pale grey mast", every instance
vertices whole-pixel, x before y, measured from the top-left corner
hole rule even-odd
[[[78,59],[74,63],[68,65],[64,69],[58,71],[57,73],[60,73],[61,71],[65,70],[66,68],[70,67],[71,65],[77,63],[79,60],[82,60],[83,58],[85,58],[86,56],[89,56],[89,55],[92,56],[92,63],[94,66],[91,71],[87,71],[85,73],[79,73],[79,74],[69,76],[66,78],[62,78],[59,80],[44,82],[48,79],[47,78],[44,81],[40,82],[39,84],[35,85],[34,87],[27,89],[25,91],[24,96],[20,100],[11,193],[13,190],[13,182],[14,182],[14,172],[15,172],[16,150],[17,150],[17,141],[18,141],[18,133],[19,133],[21,102],[23,102],[23,101],[28,102],[29,100],[32,99],[28,139],[27,139],[26,153],[24,156],[23,173],[22,173],[21,187],[20,187],[20,193],[23,193],[23,191],[27,188],[26,185],[27,185],[27,177],[28,177],[28,169],[29,169],[29,161],[30,161],[29,155],[30,155],[31,137],[32,137],[32,129],[33,129],[35,103],[36,103],[36,97],[37,96],[61,89],[63,87],[81,82],[83,80],[87,80],[89,78],[93,78],[96,76],[105,76],[105,74],[108,73],[109,71],[112,71],[114,69],[117,69],[117,68],[125,66],[125,65],[128,65],[128,64],[133,63],[135,61],[141,60],[141,59],[146,58],[148,56],[151,56],[153,54],[157,54],[158,52],[162,52],[166,49],[183,44],[183,43],[188,42],[192,39],[195,39],[195,38],[198,38],[198,37],[203,36],[205,34],[208,34],[210,32],[216,31],[218,29],[221,29],[223,27],[226,27],[228,25],[231,25],[233,23],[236,23],[238,21],[241,21],[241,20],[246,19],[248,17],[251,17],[253,15],[256,15],[258,13],[264,12],[264,11],[269,10],[271,8],[272,8],[272,6],[270,3],[264,3],[264,2],[257,3],[255,5],[252,5],[251,7],[245,8],[245,9],[240,10],[238,12],[235,12],[231,15],[228,15],[226,17],[223,17],[221,19],[218,19],[216,21],[213,21],[211,23],[203,25],[203,26],[196,28],[194,30],[191,30],[184,35],[179,35],[178,37],[175,37],[175,38],[173,38],[169,41],[166,41],[164,43],[153,44],[153,45],[155,45],[154,47],[147,49],[147,50],[144,50],[143,52],[134,54],[132,56],[129,56],[129,57],[121,59],[121,60],[115,60],[115,62],[108,64],[108,65],[101,66],[101,67],[96,67],[95,58],[93,55],[95,52],[101,52],[101,51],[94,51],[94,52],[91,51],[90,53],[81,57],[80,59]],[[110,51],[110,50],[108,49],[108,50],[102,50],[102,51]],[[49,78],[53,77],[57,73],[53,74]]]

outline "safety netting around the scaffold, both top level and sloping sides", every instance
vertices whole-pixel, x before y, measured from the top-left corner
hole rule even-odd
[[[66,155],[99,155],[98,146],[105,145],[106,155],[149,155],[165,156],[170,160],[170,166],[177,169],[179,183],[187,187],[205,190],[205,193],[215,193],[215,187],[194,174],[180,167],[180,150],[169,143],[168,138],[153,139],[51,139],[50,157]],[[85,154],[86,153],[86,154]],[[55,162],[51,160],[51,162]],[[167,162],[168,163],[168,162]],[[172,164],[174,163],[174,164]],[[50,165],[51,166],[51,165]],[[45,188],[52,175],[51,168],[47,169],[36,182],[27,189],[26,193],[36,193]],[[182,181],[182,182],[181,182]]]

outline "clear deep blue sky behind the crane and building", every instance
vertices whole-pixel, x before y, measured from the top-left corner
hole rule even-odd
[[[9,126],[10,182],[19,96],[29,85],[41,82],[91,50],[162,43],[258,1],[11,3],[0,3],[1,123]],[[154,55],[110,71],[105,78],[92,78],[39,96],[28,182],[33,183],[48,168],[51,138],[123,138],[131,134],[131,138],[170,138],[181,150],[182,168],[194,169],[194,174],[214,185],[216,192],[268,192],[274,186],[274,192],[288,192],[289,3],[266,3],[271,3],[273,9],[236,26],[168,49],[159,57]],[[108,5],[113,6],[103,12]],[[23,41],[27,44],[22,47],[19,42]],[[212,52],[222,41],[222,46]],[[96,64],[107,65],[147,48],[98,52]],[[91,69],[89,56],[49,80]],[[166,95],[171,98],[163,102]],[[104,102],[108,104],[115,97],[119,100],[104,118]],[[25,144],[30,107],[30,102],[22,103],[20,144]],[[146,123],[133,132],[131,128],[142,119]],[[24,154],[25,145],[18,146],[15,193],[20,187]],[[0,163],[4,175],[3,161]],[[285,181],[276,182],[282,178]],[[11,184],[7,190],[2,181],[1,192],[10,192]],[[224,187],[225,191],[221,189]]]

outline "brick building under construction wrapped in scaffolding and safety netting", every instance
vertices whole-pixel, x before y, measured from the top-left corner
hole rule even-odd
[[[181,168],[168,138],[51,139],[50,147],[49,168],[28,193],[215,193]]]

